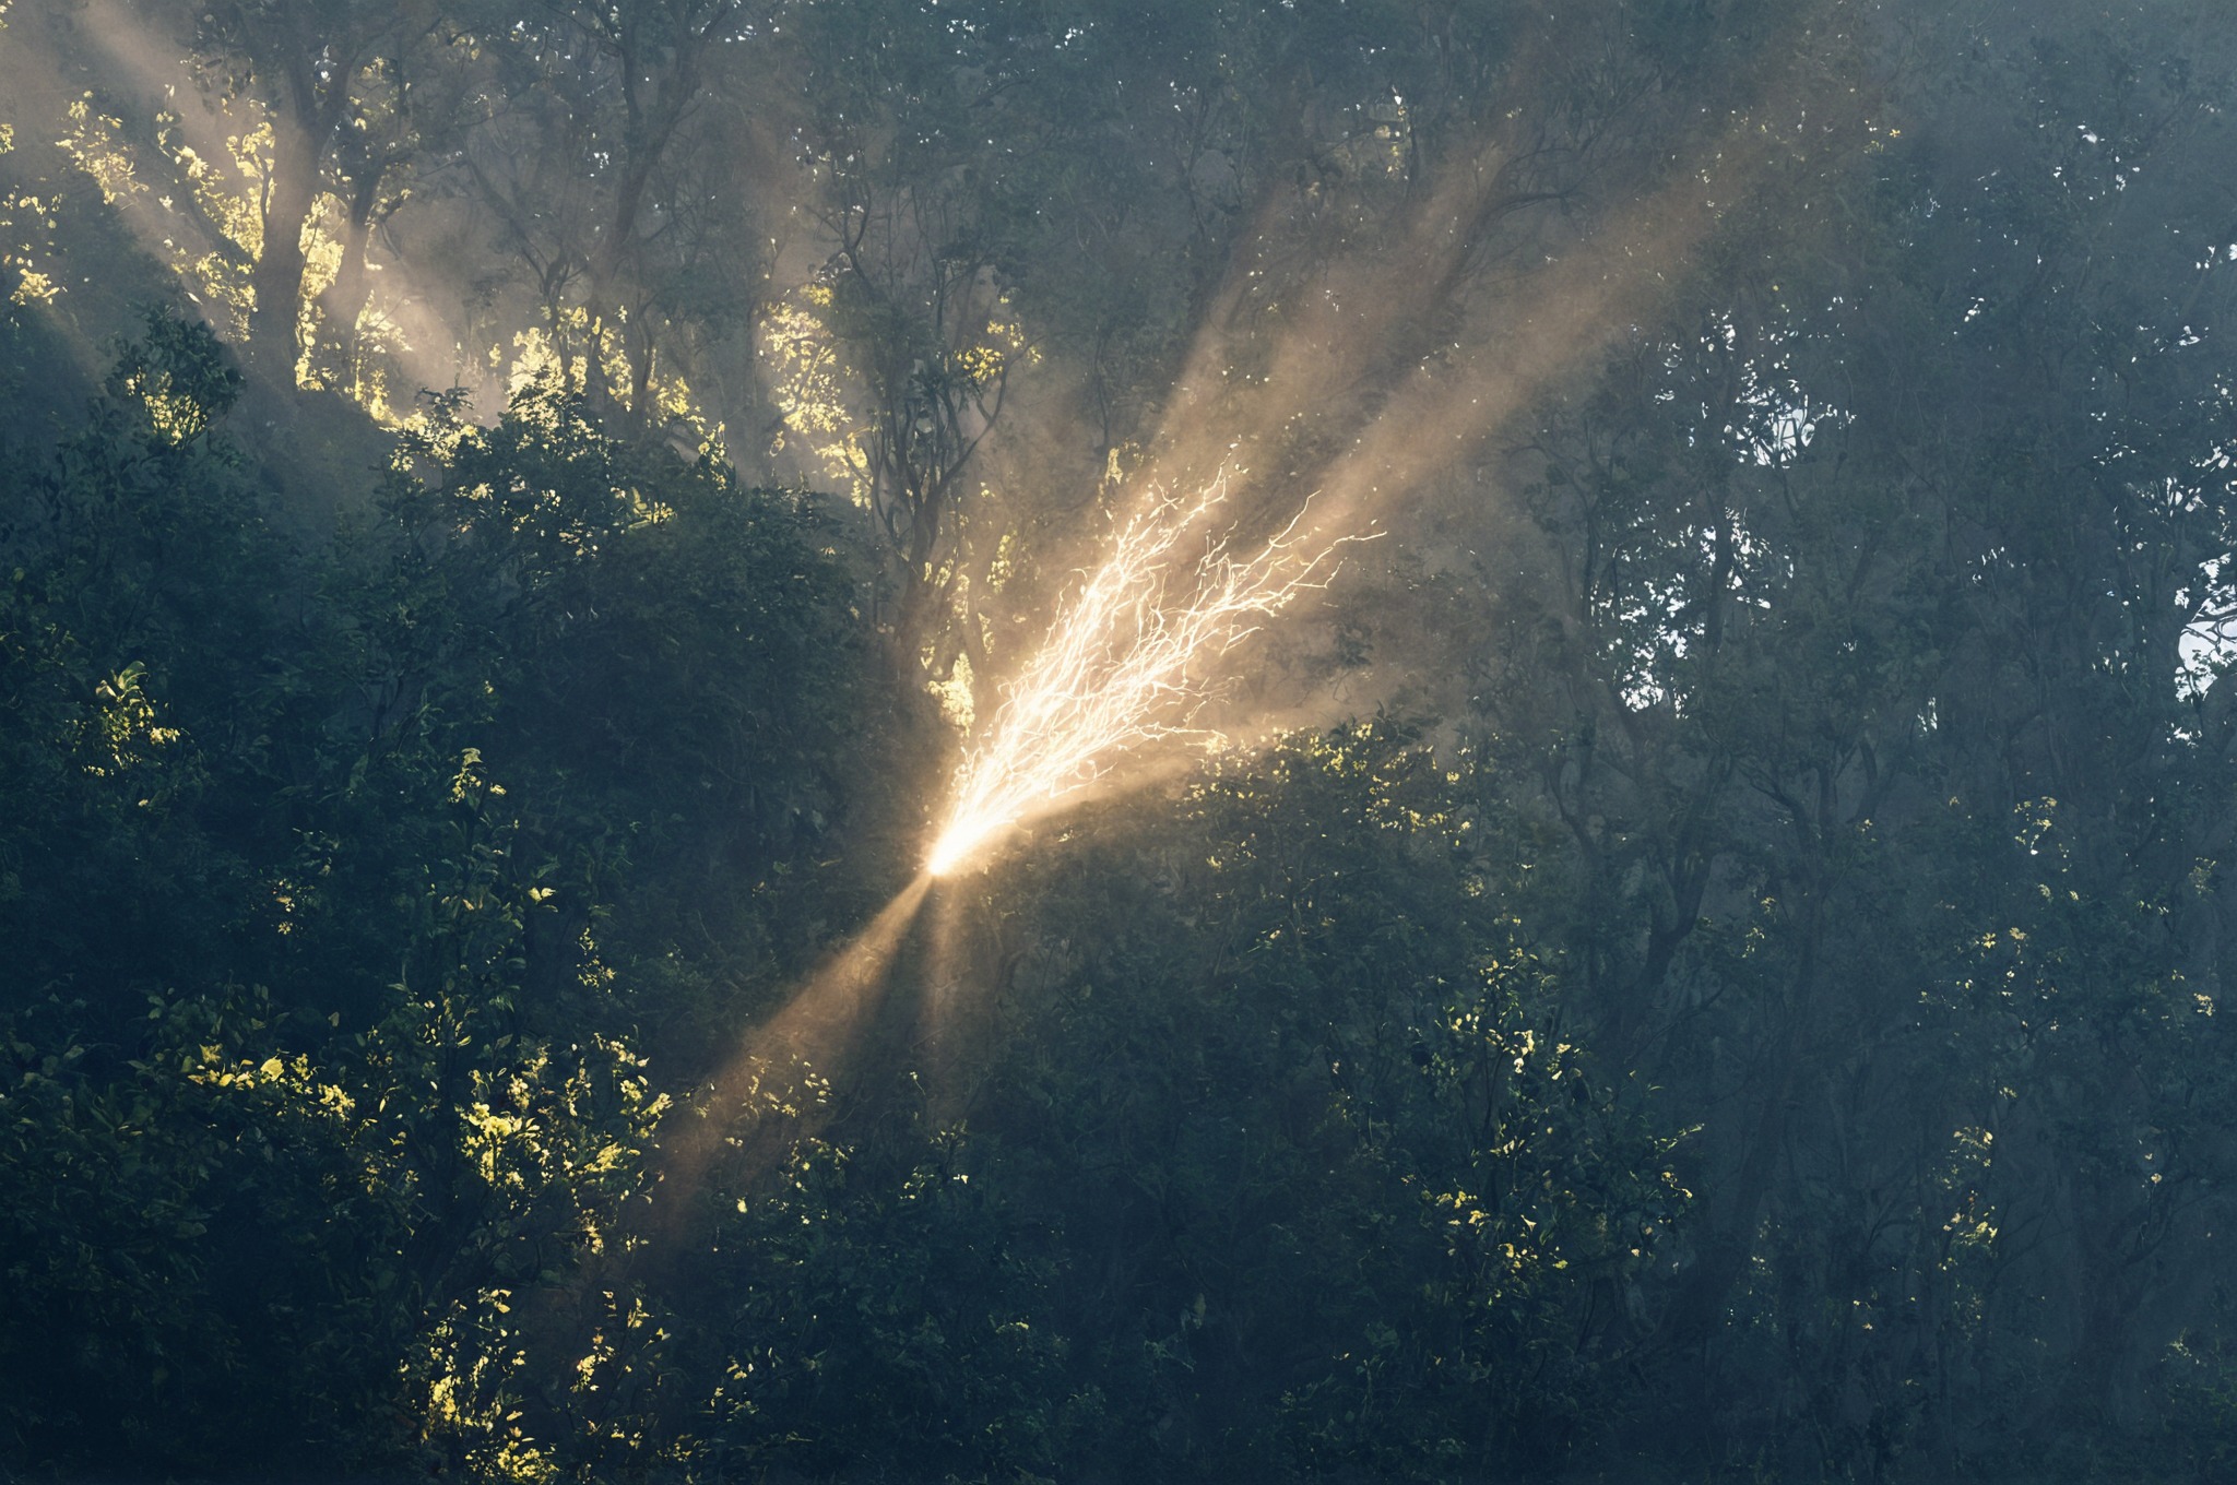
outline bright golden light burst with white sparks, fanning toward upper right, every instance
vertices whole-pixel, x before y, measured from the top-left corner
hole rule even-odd
[[[1752,174],[1761,141],[1734,125],[1716,143],[1722,179]],[[1215,476],[1197,501],[1143,481],[1110,557],[1058,608],[1042,649],[1004,687],[993,727],[966,754],[926,870],[962,870],[1009,830],[1080,803],[1112,781],[1121,758],[1161,738],[1206,736],[1195,722],[1217,693],[1228,651],[1302,590],[1324,586],[1338,548],[1365,539],[1389,501],[1481,447],[1649,311],[1667,291],[1664,271],[1687,262],[1716,224],[1702,181],[1678,174],[1559,259],[1523,271],[1528,295],[1510,284],[1508,295],[1485,300],[1465,289],[1467,264],[1490,224],[1526,199],[1506,183],[1499,150],[1485,148],[1427,197],[1387,262],[1338,266],[1331,291],[1300,309],[1255,387],[1221,394],[1228,347],[1204,335],[1159,434],[1157,467],[1170,479],[1186,481],[1199,450],[1233,458],[1275,443],[1304,407],[1365,403],[1356,436],[1277,481],[1304,476],[1320,494],[1275,539],[1250,557],[1237,557],[1228,539],[1208,539],[1186,575],[1186,541],[1221,512],[1226,479]],[[1414,344],[1412,373],[1382,396],[1360,396],[1367,367],[1391,349],[1394,327],[1429,322],[1441,304],[1459,327],[1452,338]],[[1306,720],[1311,707],[1295,711]],[[1130,781],[1143,776],[1127,772]]]

